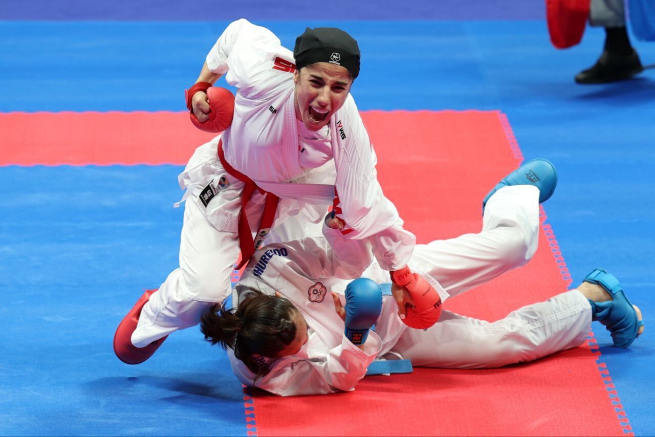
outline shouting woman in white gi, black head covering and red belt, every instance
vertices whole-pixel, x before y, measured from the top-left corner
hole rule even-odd
[[[356,41],[339,29],[308,28],[294,52],[247,20],[225,29],[187,105],[198,123],[210,123],[206,91],[225,74],[238,90],[233,121],[179,176],[179,268],[119,325],[114,350],[122,361],[143,362],[166,335],[195,326],[206,303],[222,302],[240,250],[245,263],[265,238],[287,239],[284,222],[293,216],[294,227],[320,229],[327,205],[346,238],[369,240],[379,265],[411,288],[415,237],[377,181],[375,151],[350,96],[359,68]]]

